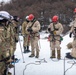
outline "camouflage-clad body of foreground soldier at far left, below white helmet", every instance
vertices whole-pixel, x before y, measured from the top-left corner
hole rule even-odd
[[[2,22],[0,23],[0,58],[2,60],[2,62],[0,62],[0,64],[2,64],[2,68],[0,68],[0,71],[4,71],[4,75],[6,75],[6,71],[7,71],[7,65],[8,64],[8,60],[10,59],[10,50],[11,50],[11,35],[12,32],[9,29],[9,24],[7,23],[8,20],[7,19],[3,19]],[[11,33],[10,33],[11,32]],[[2,74],[3,75],[3,72]]]

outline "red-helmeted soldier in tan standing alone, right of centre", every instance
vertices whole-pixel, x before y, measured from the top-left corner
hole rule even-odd
[[[60,34],[63,32],[63,26],[58,22],[58,16],[53,16],[52,23],[48,27],[48,31],[50,32],[50,47],[51,47],[51,57],[56,58],[57,50],[57,59],[61,58],[61,37]]]

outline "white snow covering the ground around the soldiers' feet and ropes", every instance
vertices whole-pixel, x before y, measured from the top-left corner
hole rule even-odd
[[[45,32],[40,33],[40,56],[38,59],[35,57],[29,58],[31,53],[22,53],[23,37],[19,36],[20,42],[17,43],[15,57],[19,58],[20,61],[15,64],[15,74],[14,68],[9,70],[12,72],[12,75],[76,75],[76,65],[72,64],[75,60],[65,59],[64,63],[65,54],[71,51],[67,49],[66,45],[71,42],[73,38],[69,38],[68,34],[63,37],[63,41],[61,43],[61,60],[57,60],[56,58],[52,60],[50,59],[50,43],[44,38],[48,35],[49,34]],[[72,68],[70,68],[71,66]],[[64,70],[67,71],[64,73]]]

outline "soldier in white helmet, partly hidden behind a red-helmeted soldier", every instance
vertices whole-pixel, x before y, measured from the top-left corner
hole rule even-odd
[[[30,52],[29,45],[30,45],[30,33],[26,31],[26,27],[28,25],[28,16],[26,16],[25,21],[22,24],[22,35],[23,35],[23,47],[24,47],[24,53]]]

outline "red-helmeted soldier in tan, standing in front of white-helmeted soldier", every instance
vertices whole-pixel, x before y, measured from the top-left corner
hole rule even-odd
[[[39,41],[39,30],[40,30],[40,23],[38,20],[35,19],[33,14],[30,14],[28,17],[28,20],[30,21],[28,26],[27,26],[27,31],[30,32],[30,42],[31,42],[31,55],[29,57],[34,57],[35,56],[35,51],[36,51],[36,58],[39,57],[39,46],[38,46],[38,41]]]

